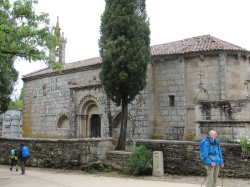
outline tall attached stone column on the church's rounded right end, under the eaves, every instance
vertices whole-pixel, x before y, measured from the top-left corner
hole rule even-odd
[[[226,62],[227,54],[219,54],[219,79],[220,79],[220,100],[227,99],[226,95]]]

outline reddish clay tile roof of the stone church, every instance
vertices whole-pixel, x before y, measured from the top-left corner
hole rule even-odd
[[[241,51],[247,52],[248,50],[241,48],[237,45],[225,42],[211,35],[197,36],[193,38],[187,38],[184,40],[170,42],[161,45],[155,45],[151,47],[152,56],[158,55],[177,55],[184,53],[195,53],[195,52],[208,52],[208,51]],[[76,69],[80,67],[87,67],[95,64],[101,64],[102,58],[96,57],[87,60],[67,63],[63,65],[63,71]],[[56,71],[52,68],[45,68],[28,75],[23,78],[29,78],[33,76],[40,76],[44,74],[55,73]]]

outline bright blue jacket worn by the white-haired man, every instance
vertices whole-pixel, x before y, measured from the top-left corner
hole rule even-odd
[[[220,149],[220,143],[216,138],[213,142],[210,137],[207,137],[207,141],[205,141],[203,145],[203,153],[203,162],[206,165],[211,166],[211,164],[214,162],[216,163],[215,166],[220,166],[221,164],[224,164]]]

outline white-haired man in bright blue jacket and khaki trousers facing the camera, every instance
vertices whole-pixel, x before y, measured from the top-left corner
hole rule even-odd
[[[216,187],[219,169],[224,167],[220,144],[216,136],[215,131],[210,131],[209,137],[207,137],[203,145],[203,162],[206,164],[207,169],[207,187]]]

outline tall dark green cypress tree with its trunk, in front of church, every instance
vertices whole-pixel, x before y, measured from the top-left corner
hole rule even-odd
[[[125,149],[128,104],[146,86],[150,29],[145,0],[106,0],[99,40],[100,79],[109,99],[122,105],[116,149]]]

